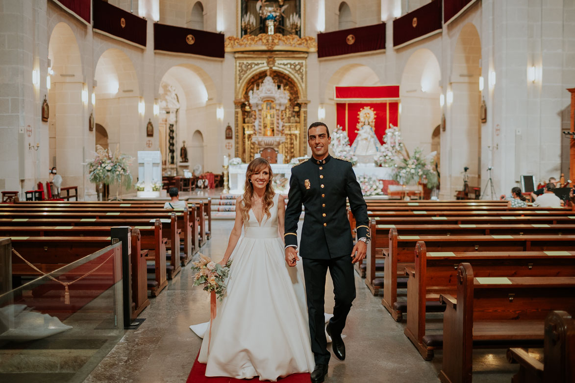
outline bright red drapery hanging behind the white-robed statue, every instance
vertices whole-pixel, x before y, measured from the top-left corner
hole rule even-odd
[[[347,131],[350,144],[357,136],[358,123],[363,125],[359,113],[366,107],[374,112],[374,131],[380,144],[389,125],[398,125],[399,86],[335,87],[335,99],[336,121]]]

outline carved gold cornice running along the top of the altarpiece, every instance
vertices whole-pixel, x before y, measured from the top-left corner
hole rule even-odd
[[[258,36],[247,34],[241,38],[229,36],[225,39],[225,50],[227,52],[235,51],[258,51],[267,49],[290,48],[291,51],[315,52],[317,51],[317,42],[311,36],[298,37],[295,34],[282,36],[279,33],[265,34],[260,33]]]

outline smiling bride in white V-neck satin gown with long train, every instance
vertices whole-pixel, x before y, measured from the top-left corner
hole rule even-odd
[[[233,259],[227,289],[211,341],[204,337],[198,356],[206,363],[206,376],[275,381],[315,366],[303,277],[285,262],[285,201],[274,193],[272,179],[264,158],[248,165],[245,192],[236,199],[235,223],[220,261],[225,265]],[[190,326],[200,336],[206,327]]]

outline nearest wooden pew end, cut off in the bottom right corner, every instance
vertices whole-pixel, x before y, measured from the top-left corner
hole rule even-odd
[[[566,311],[553,311],[545,319],[543,363],[525,350],[507,350],[507,359],[519,363],[512,383],[575,382],[575,320]]]

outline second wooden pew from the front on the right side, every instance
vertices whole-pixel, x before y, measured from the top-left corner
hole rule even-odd
[[[457,299],[441,295],[442,382],[471,382],[473,348],[540,347],[545,318],[575,310],[575,277],[474,278],[470,264],[458,267]]]

